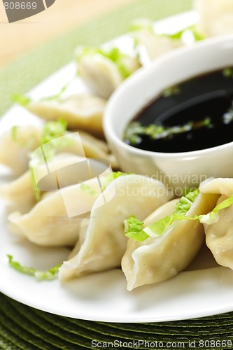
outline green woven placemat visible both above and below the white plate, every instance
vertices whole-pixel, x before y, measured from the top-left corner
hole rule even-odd
[[[190,10],[191,3],[135,1],[27,53],[0,71],[0,115],[10,106],[13,92],[27,92],[71,61],[77,45],[99,45],[123,34],[135,18],[159,20]],[[101,323],[48,314],[0,294],[0,349],[233,349],[232,316],[166,323]]]

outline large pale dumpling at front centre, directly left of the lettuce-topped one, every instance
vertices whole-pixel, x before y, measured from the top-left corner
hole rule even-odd
[[[59,269],[61,281],[119,267],[127,245],[124,220],[133,213],[146,218],[171,198],[163,183],[141,175],[115,179],[103,195],[112,200],[99,207],[103,200],[99,196],[94,203],[80,251]]]

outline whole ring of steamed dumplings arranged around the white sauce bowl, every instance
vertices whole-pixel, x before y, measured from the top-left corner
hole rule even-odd
[[[196,0],[194,6],[199,13],[195,26],[199,37],[233,32],[232,0]],[[125,236],[124,221],[129,216],[136,216],[146,228],[172,214],[178,199],[164,183],[148,176],[112,172],[120,169],[104,139],[106,102],[145,62],[185,45],[183,32],[158,35],[148,20],[134,22],[130,35],[135,41],[132,55],[119,48],[78,48],[78,74],[90,93],[29,99],[24,107],[41,118],[41,124],[18,126],[15,133],[8,130],[0,137],[0,164],[15,178],[0,187],[1,197],[12,206],[9,231],[39,246],[70,247],[67,261],[59,268],[61,283],[119,267],[128,290],[164,281],[188,267],[204,241],[219,265],[233,269],[232,207],[221,210],[218,222],[211,225],[183,220],[170,225],[161,237],[136,241]],[[146,52],[146,61],[141,52]],[[51,174],[64,169],[63,185],[50,190],[51,178],[48,190],[39,190],[36,198],[29,169],[31,154],[41,148],[45,123],[60,119],[66,120],[66,137],[71,142],[39,165],[38,172],[48,175],[48,169]],[[73,166],[90,169],[90,160],[99,173],[90,176],[83,170],[82,181],[76,181]],[[206,181],[187,216],[207,214],[232,194],[233,179]]]

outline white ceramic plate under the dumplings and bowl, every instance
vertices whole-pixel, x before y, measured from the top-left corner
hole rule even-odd
[[[178,15],[161,21],[157,29],[178,29],[181,24],[192,24],[195,18],[195,13]],[[124,46],[129,43],[129,38],[121,37],[116,42]],[[57,92],[73,78],[75,71],[75,65],[68,64],[38,85],[31,94],[42,97]],[[83,91],[85,86],[76,79],[69,90],[74,89]],[[15,123],[32,123],[32,120],[38,123],[30,113],[14,106],[1,120],[0,128],[4,130]],[[0,174],[3,181],[5,169],[0,169]],[[66,248],[41,248],[13,237],[7,230],[6,210],[6,204],[0,202],[0,290],[19,302],[52,314],[109,322],[171,321],[233,310],[233,272],[214,267],[211,255],[206,255],[206,251],[199,255],[189,271],[132,292],[127,291],[125,276],[120,269],[85,276],[66,285],[58,280],[38,282],[10,268],[6,254],[13,255],[22,265],[46,270],[66,260],[69,251]]]

